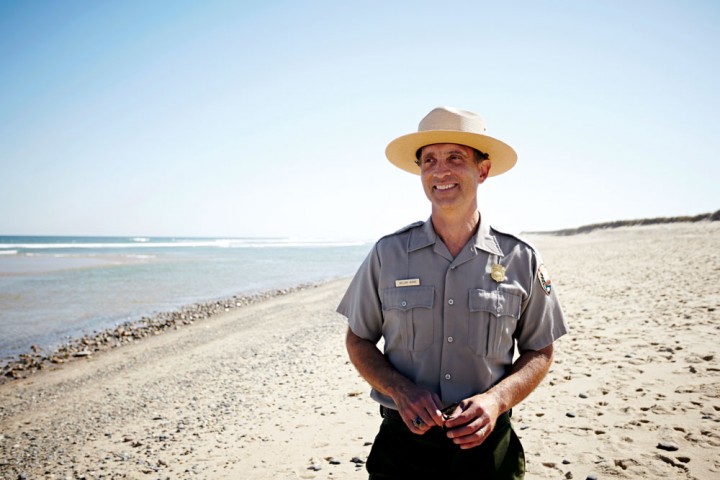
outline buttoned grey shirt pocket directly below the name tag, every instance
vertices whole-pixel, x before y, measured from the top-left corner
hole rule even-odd
[[[420,351],[432,345],[435,325],[433,304],[435,287],[400,287],[383,290],[383,316],[388,337],[393,345],[406,350]]]

